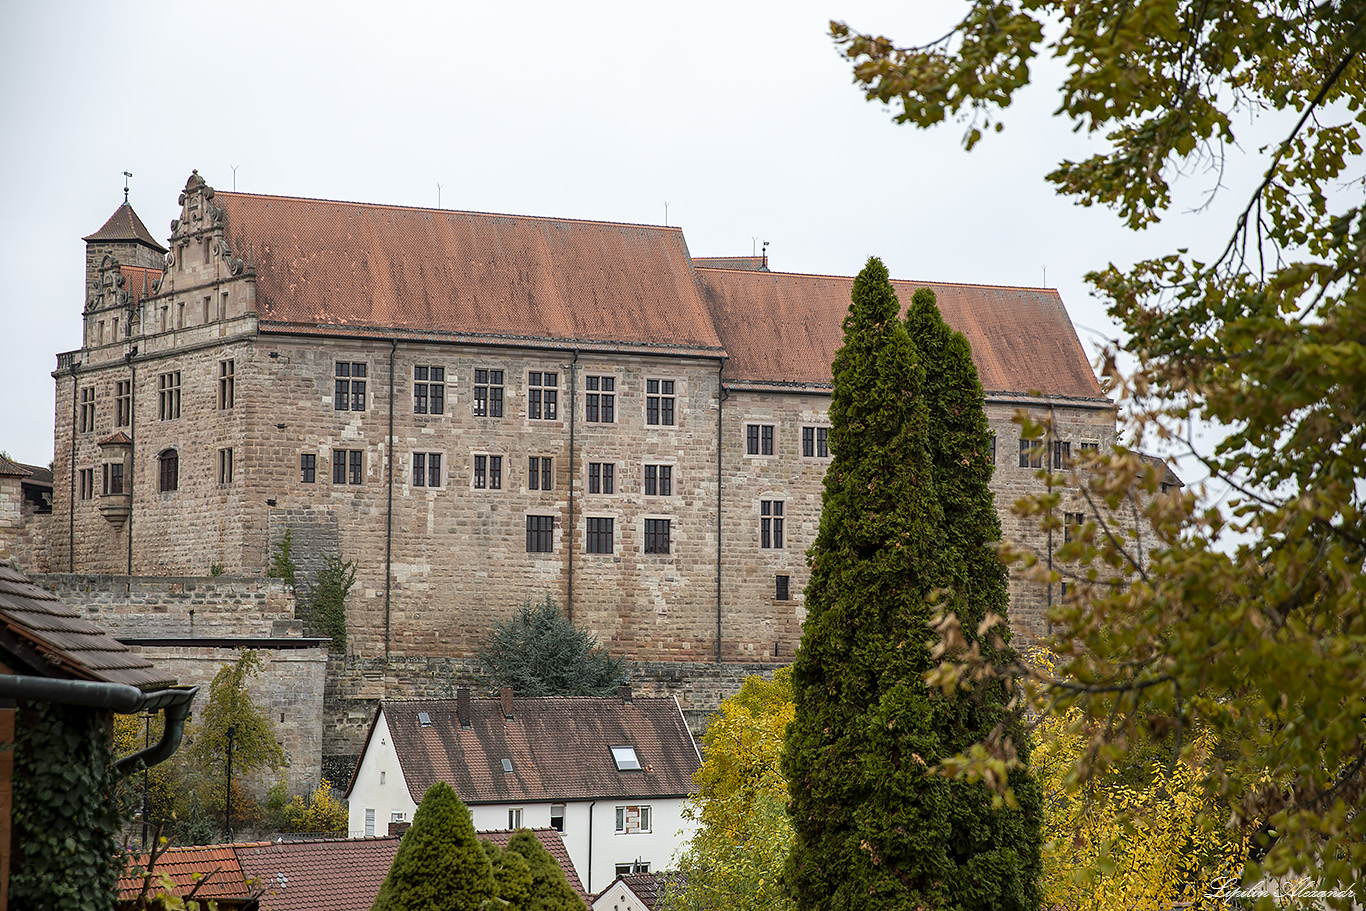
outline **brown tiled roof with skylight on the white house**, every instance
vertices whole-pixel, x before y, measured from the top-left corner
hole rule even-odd
[[[693,773],[702,759],[672,698],[505,697],[464,705],[381,702],[347,795],[381,713],[415,803],[437,781],[466,803],[671,798],[697,789]],[[630,747],[634,762],[612,747]]]

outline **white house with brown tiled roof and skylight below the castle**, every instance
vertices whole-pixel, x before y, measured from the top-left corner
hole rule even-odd
[[[673,698],[395,699],[376,707],[351,774],[351,835],[411,822],[445,781],[477,829],[557,829],[591,895],[619,874],[668,869],[693,837],[683,803],[702,765]]]

